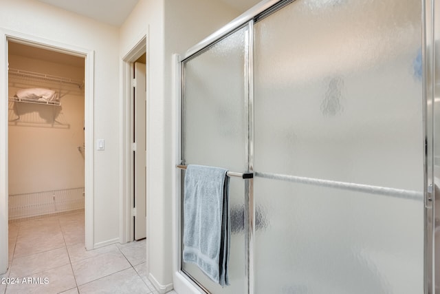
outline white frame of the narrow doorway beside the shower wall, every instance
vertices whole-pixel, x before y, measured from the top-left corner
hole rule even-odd
[[[148,50],[147,50],[148,38],[144,34],[135,45],[122,57],[122,99],[120,101],[120,117],[122,118],[122,132],[120,140],[120,242],[126,243],[134,240],[134,220],[132,217],[132,209],[134,206],[134,187],[133,187],[133,151],[131,150],[131,117],[132,117],[132,105],[133,92],[131,91],[131,72],[133,72],[134,62],[146,53],[146,75],[147,75],[147,91],[146,91],[146,103],[148,109],[149,101],[149,87],[148,87]],[[146,120],[146,129],[148,130],[148,120]],[[148,146],[148,132],[146,132],[146,143]],[[147,160],[148,160],[148,147],[147,147]],[[148,166],[148,165],[147,165]],[[146,180],[146,179],[145,179]],[[146,194],[146,203],[148,207],[148,193]],[[148,219],[148,213],[146,218]],[[147,222],[148,224],[148,222]],[[148,227],[146,228],[148,231]],[[148,242],[148,240],[147,240]]]

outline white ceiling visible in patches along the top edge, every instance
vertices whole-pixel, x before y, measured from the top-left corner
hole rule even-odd
[[[38,0],[64,10],[75,12],[109,25],[120,27],[129,17],[139,0]],[[205,0],[206,1],[206,0]],[[220,1],[240,14],[261,0],[210,0]]]

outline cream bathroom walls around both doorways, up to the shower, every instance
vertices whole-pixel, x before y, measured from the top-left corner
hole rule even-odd
[[[0,0],[0,7],[0,29],[95,52],[94,134],[95,141],[106,140],[105,151],[94,151],[94,243],[98,246],[118,240],[120,233],[120,59],[143,34],[148,35],[149,269],[159,286],[169,286],[176,245],[170,213],[176,163],[171,54],[186,51],[239,13],[214,1],[140,0],[118,30],[33,0]]]

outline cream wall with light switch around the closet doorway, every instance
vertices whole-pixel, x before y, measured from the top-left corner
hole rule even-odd
[[[0,7],[0,29],[95,52],[94,141],[105,139],[106,149],[94,151],[94,244],[115,242],[119,238],[120,197],[118,28],[39,1],[0,0]]]

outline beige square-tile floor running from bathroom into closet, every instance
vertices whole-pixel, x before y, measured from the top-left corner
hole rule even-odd
[[[146,277],[146,240],[86,251],[84,235],[84,211],[10,222],[0,294],[157,294]]]

